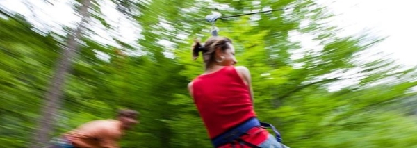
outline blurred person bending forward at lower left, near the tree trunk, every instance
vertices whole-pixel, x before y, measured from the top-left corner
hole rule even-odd
[[[51,148],[118,148],[124,131],[138,124],[138,112],[119,110],[115,120],[95,120],[64,133],[52,142]]]

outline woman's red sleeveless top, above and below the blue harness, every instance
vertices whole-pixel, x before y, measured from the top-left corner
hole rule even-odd
[[[210,138],[256,117],[249,87],[235,67],[222,67],[193,80],[193,98]],[[268,131],[255,127],[243,140],[259,145],[268,138]]]

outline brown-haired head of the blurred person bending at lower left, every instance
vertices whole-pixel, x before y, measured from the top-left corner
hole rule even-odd
[[[117,120],[122,122],[123,129],[131,129],[132,126],[139,123],[139,113],[135,110],[123,109],[117,113]]]

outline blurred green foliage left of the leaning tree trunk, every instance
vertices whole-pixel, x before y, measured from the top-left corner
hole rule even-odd
[[[0,19],[0,142],[5,147],[25,147],[30,137],[47,75],[58,57],[53,35],[40,35],[19,15]]]

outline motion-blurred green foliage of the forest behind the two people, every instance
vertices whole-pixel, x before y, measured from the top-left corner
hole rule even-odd
[[[415,69],[402,69],[384,59],[357,62],[357,55],[380,39],[336,36],[336,28],[322,24],[332,15],[313,1],[112,2],[142,28],[140,48],[115,38],[117,48],[85,35],[51,135],[114,117],[119,108],[132,108],[140,112],[140,124],[122,139],[122,147],[212,147],[186,89],[204,72],[202,58],[192,60],[190,45],[194,38],[206,40],[211,26],[190,20],[204,18],[211,8],[236,15],[269,7],[291,10],[218,20],[216,25],[220,35],[233,40],[238,65],[250,69],[259,119],[275,124],[286,145],[417,145]],[[109,30],[114,27],[99,15],[101,6],[92,9],[98,13],[93,19]],[[0,143],[28,147],[59,49],[65,45],[62,40],[67,39],[56,33],[40,34],[21,17],[12,17],[0,17]],[[306,19],[311,23],[300,26]],[[291,40],[293,31],[312,35],[320,49]],[[170,44],[159,44],[161,40]],[[132,50],[143,54],[126,54]],[[98,58],[97,51],[110,59]],[[300,58],[293,58],[294,53]],[[359,77],[345,76],[352,71]],[[329,91],[332,85],[353,80],[357,85]]]

